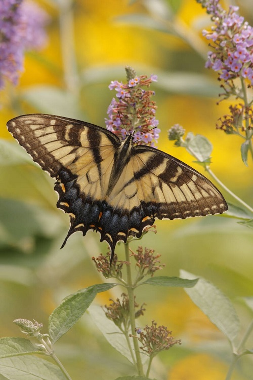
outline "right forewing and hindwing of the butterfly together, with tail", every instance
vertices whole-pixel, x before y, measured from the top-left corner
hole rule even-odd
[[[135,146],[112,192],[99,225],[114,252],[117,241],[139,238],[155,219],[185,219],[223,213],[227,204],[202,174],[163,151]]]

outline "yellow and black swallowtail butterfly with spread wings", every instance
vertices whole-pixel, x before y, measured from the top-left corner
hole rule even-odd
[[[70,216],[63,242],[76,231],[99,232],[111,249],[140,238],[155,219],[223,213],[228,206],[215,185],[182,161],[134,136],[79,120],[33,114],[7,127],[32,159],[56,179],[57,207]]]

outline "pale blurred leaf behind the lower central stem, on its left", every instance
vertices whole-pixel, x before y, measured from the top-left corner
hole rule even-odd
[[[120,331],[120,329],[106,317],[103,309],[98,305],[92,305],[89,308],[88,314],[91,315],[93,323],[96,324],[109,344],[133,364],[133,359],[126,343],[125,336],[122,331]],[[130,341],[132,351],[134,351],[132,339],[130,339]]]

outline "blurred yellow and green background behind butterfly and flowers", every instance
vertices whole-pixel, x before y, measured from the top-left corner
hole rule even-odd
[[[216,130],[217,120],[228,113],[230,102],[216,104],[220,83],[215,73],[204,68],[208,46],[201,30],[210,24],[199,4],[194,0],[37,3],[50,15],[48,45],[43,51],[28,52],[19,85],[7,84],[1,92],[0,137],[14,146],[6,122],[32,112],[59,114],[104,126],[107,107],[115,96],[108,85],[111,80],[124,81],[124,66],[130,65],[137,74],[158,74],[158,82],[152,87],[161,129],[158,148],[203,173],[185,149],[168,141],[167,130],[179,123],[187,132],[206,136],[214,148],[212,170],[252,206],[252,162],[249,160],[246,167],[241,161],[243,141]],[[250,2],[242,6],[243,16],[252,25]],[[20,161],[15,156],[19,154]],[[69,221],[56,208],[53,180],[33,166],[29,158],[26,161],[17,144],[14,150],[10,145],[3,157],[0,336],[20,334],[12,323],[15,318],[43,322],[47,332],[48,316],[63,297],[104,281],[91,256],[105,253],[107,245],[99,243],[95,233],[85,238],[74,234],[60,251]],[[228,201],[232,200],[222,192]],[[243,333],[252,318],[252,312],[240,300],[253,295],[252,230],[224,216],[158,221],[156,225],[156,235],[149,233],[131,247],[143,245],[161,254],[166,267],[158,275],[178,276],[182,268],[220,287],[234,302]],[[118,256],[123,259],[122,244]],[[96,301],[104,305],[108,298],[120,293],[114,288],[99,294]],[[141,326],[155,319],[173,330],[175,338],[182,339],[181,347],[160,355],[153,377],[225,379],[229,344],[183,289],[141,287],[137,301],[146,303],[147,311],[139,320]],[[251,339],[249,348],[252,343]],[[108,348],[87,316],[61,339],[56,352],[73,379],[103,380],[135,374],[122,356]],[[243,357],[232,379],[250,379],[252,367],[253,361]]]

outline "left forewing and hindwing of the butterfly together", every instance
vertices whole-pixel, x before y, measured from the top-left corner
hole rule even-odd
[[[57,207],[70,216],[69,236],[98,226],[120,140],[90,123],[52,115],[24,115],[7,123],[9,131],[53,178]]]

